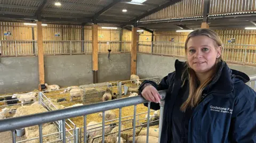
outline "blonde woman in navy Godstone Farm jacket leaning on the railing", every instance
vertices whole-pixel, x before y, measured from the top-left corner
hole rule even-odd
[[[195,30],[185,43],[187,62],[176,60],[159,85],[140,86],[153,110],[159,110],[157,90],[167,89],[161,143],[256,142],[255,91],[245,73],[228,68],[221,50],[217,33]]]

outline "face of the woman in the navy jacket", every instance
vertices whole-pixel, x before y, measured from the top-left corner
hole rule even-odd
[[[191,37],[187,43],[187,59],[190,68],[197,73],[210,71],[221,54],[221,47],[207,36]]]

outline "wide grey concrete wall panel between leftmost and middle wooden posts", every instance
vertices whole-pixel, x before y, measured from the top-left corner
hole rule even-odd
[[[60,87],[93,82],[92,55],[44,56],[45,83]]]

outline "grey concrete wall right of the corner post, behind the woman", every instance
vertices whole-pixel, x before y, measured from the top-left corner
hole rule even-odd
[[[148,54],[137,55],[137,74],[141,78],[152,77],[157,75],[165,76],[175,70],[174,62],[178,59],[179,61],[185,61],[184,58],[176,58],[169,56],[158,56]],[[242,71],[247,75],[256,74],[255,66],[248,65],[237,65],[228,63],[230,69]]]

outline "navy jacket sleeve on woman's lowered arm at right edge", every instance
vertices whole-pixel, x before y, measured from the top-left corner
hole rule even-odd
[[[231,131],[233,131],[231,142],[256,142],[256,94],[249,88],[245,88],[247,91],[243,92],[242,98],[235,103],[233,111],[235,116],[231,120]]]

